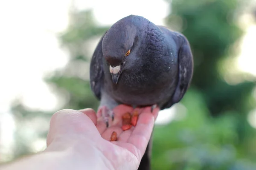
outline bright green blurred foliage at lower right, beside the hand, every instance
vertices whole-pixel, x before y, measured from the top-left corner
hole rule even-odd
[[[237,114],[213,119],[207,115],[203,96],[200,91],[190,90],[183,99],[186,116],[155,127],[153,170],[254,170],[255,157],[246,153],[255,149],[239,144]]]

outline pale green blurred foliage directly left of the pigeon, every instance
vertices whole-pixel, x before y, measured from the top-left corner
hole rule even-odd
[[[55,92],[67,94],[64,108],[93,108],[96,110],[99,102],[90,89],[89,78],[79,77],[78,74],[89,71],[88,62],[91,54],[87,51],[90,47],[84,43],[92,38],[102,36],[108,27],[97,26],[91,11],[74,11],[70,22],[67,30],[60,35],[63,46],[70,51],[70,62],[64,70],[55,71],[55,74],[47,77],[46,81],[55,87]],[[84,65],[83,70],[77,68],[78,63]],[[70,75],[70,72],[74,72],[73,75]]]

